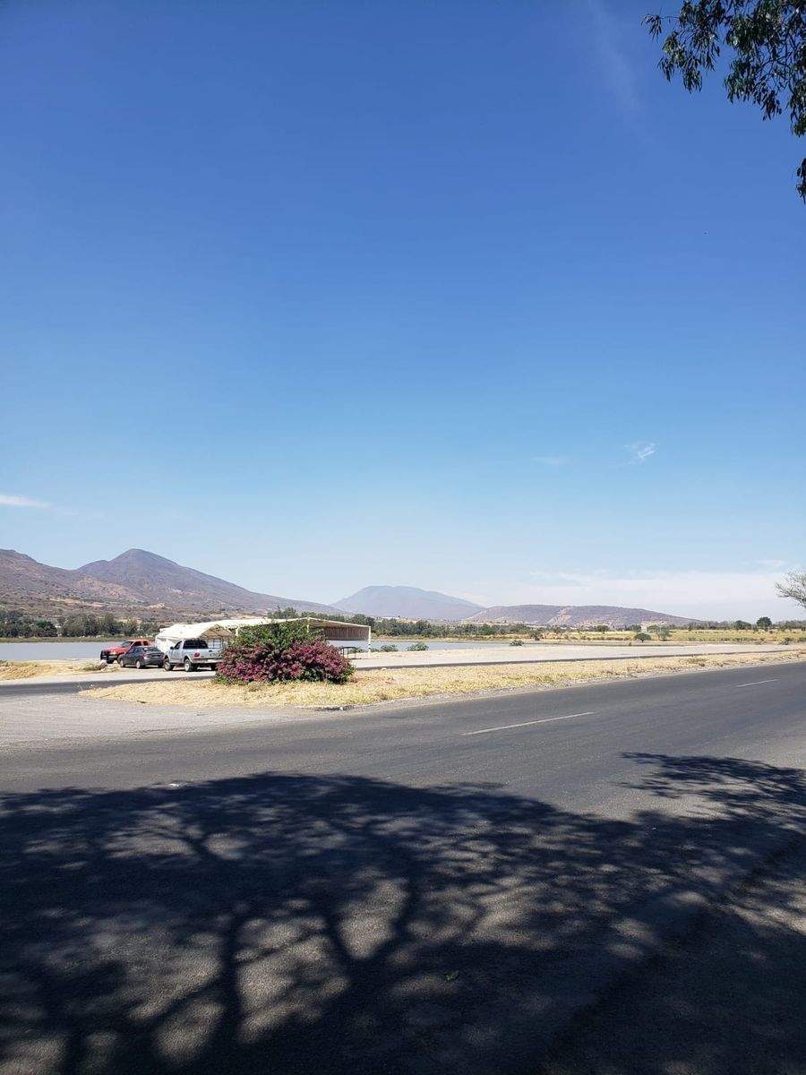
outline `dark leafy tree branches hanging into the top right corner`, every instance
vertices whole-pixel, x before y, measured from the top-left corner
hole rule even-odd
[[[686,89],[702,89],[722,48],[730,49],[724,80],[731,101],[758,104],[765,119],[789,114],[792,133],[806,134],[806,4],[797,0],[686,0],[679,15],[647,15],[663,41],[660,69],[679,74]],[[797,192],[806,201],[806,157],[797,169]]]

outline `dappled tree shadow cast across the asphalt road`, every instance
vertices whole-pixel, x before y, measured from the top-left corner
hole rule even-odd
[[[273,773],[6,796],[0,1071],[534,1072],[806,819],[801,771],[634,761],[657,805],[630,821],[494,787]],[[777,931],[748,936],[739,966],[786,946],[806,965],[786,915]],[[674,1058],[633,1070],[672,1071],[720,1003],[678,1002]]]

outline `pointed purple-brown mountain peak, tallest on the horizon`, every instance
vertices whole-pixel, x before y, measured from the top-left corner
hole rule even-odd
[[[268,613],[292,605],[300,612],[333,613],[331,605],[271,593],[255,593],[215,575],[183,568],[173,560],[142,548],[130,548],[114,560],[95,560],[77,569],[77,574],[121,586],[149,605],[200,608],[213,612]]]

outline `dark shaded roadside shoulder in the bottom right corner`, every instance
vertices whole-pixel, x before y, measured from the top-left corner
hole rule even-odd
[[[574,1021],[539,1075],[803,1075],[806,840]]]

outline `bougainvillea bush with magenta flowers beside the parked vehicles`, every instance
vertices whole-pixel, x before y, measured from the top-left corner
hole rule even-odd
[[[298,624],[270,624],[242,631],[218,662],[218,678],[225,683],[346,683],[351,675],[352,665],[346,657]]]

